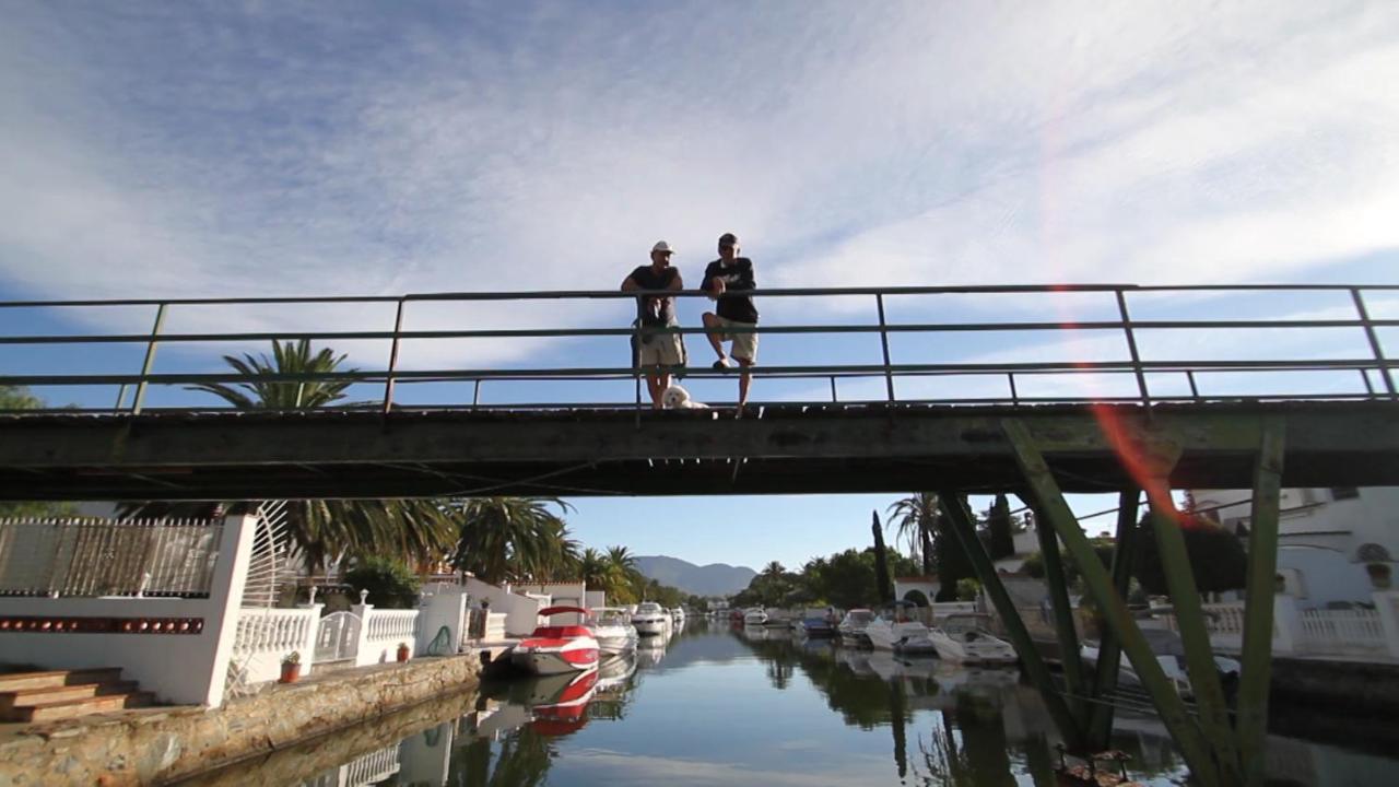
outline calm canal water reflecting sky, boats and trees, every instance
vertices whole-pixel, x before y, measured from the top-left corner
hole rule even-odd
[[[1048,787],[1058,742],[1013,671],[700,620],[589,675],[485,682],[192,784]],[[1142,783],[1184,777],[1150,714],[1119,713],[1114,746]],[[1274,784],[1399,784],[1399,759],[1335,744],[1273,735],[1267,758]]]

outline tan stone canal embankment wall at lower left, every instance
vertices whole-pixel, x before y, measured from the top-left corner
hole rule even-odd
[[[474,689],[480,658],[418,658],[276,685],[220,709],[173,707],[39,724],[0,741],[0,784],[164,783]]]

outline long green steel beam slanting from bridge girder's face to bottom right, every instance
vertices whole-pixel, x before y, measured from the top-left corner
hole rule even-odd
[[[1151,646],[1147,644],[1122,595],[1112,587],[1112,577],[1093,552],[1088,536],[1079,527],[1079,521],[1059,490],[1059,482],[1045,465],[1030,431],[1016,419],[1003,419],[1000,426],[1016,455],[1016,464],[1024,475],[1028,490],[1035,499],[1037,508],[1053,525],[1065,549],[1079,564],[1088,594],[1098,602],[1102,619],[1122,643],[1122,653],[1132,661],[1132,668],[1142,681],[1142,688],[1151,696],[1151,704],[1156,706],[1161,723],[1179,748],[1181,756],[1191,769],[1191,776],[1200,787],[1224,784],[1220,780],[1220,770],[1209,744],[1186,713],[1185,702],[1175,692],[1175,686],[1156,661]]]

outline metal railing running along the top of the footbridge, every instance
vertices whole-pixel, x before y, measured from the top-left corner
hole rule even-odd
[[[536,293],[429,293],[371,297],[320,298],[171,298],[112,301],[0,301],[0,385],[28,386],[36,392],[56,392],[80,399],[64,410],[140,413],[152,409],[148,394],[175,391],[158,409],[214,410],[231,403],[203,392],[196,385],[249,385],[252,398],[266,386],[312,389],[316,384],[347,385],[355,392],[372,389],[364,399],[337,403],[341,408],[624,408],[639,406],[641,375],[646,370],[632,364],[599,365],[581,363],[569,354],[569,343],[613,342],[603,354],[618,357],[617,344],[638,337],[639,328],[627,325],[630,304],[644,295],[674,295],[683,301],[705,298],[700,291],[536,291]],[[1391,308],[1399,286],[1195,286],[1136,287],[1119,284],[1004,286],[1004,287],[844,287],[844,288],[775,288],[758,290],[764,309],[779,319],[765,319],[755,330],[768,342],[783,342],[767,350],[751,374],[764,379],[803,381],[795,394],[788,389],[785,402],[919,402],[919,403],[1038,403],[1038,402],[1181,402],[1202,399],[1395,399],[1395,361],[1385,353],[1385,336],[1399,335],[1399,319]],[[1378,295],[1378,298],[1377,298]],[[1009,318],[977,319],[986,304],[1011,297],[1020,308]],[[923,307],[909,307],[925,298]],[[930,300],[954,302],[965,318],[951,311],[928,308]],[[1034,305],[1025,308],[1025,300]],[[1076,309],[1062,308],[1065,298],[1076,298]],[[1151,307],[1161,298],[1184,304],[1185,316],[1133,318],[1139,305]],[[1259,298],[1272,307],[1258,309]],[[1368,300],[1367,300],[1368,298]],[[1084,311],[1084,302],[1091,305]],[[1372,304],[1381,301],[1389,316],[1375,318]],[[702,301],[708,304],[708,301]],[[539,318],[555,322],[568,308],[558,304],[618,305],[602,314],[585,308],[588,325],[506,328],[459,326],[460,322],[502,321],[519,323],[519,314],[546,312]],[[852,319],[851,307],[863,305],[863,321]],[[891,315],[895,304],[909,316]],[[283,328],[297,316],[318,309],[354,309],[360,312],[341,329]],[[505,309],[502,312],[502,308]],[[218,316],[210,318],[217,309]],[[381,311],[378,326],[365,328],[369,316]],[[993,309],[990,309],[993,311]],[[438,322],[443,314],[456,314],[446,328],[409,328],[417,314],[431,314]],[[1252,312],[1252,314],[1251,314]],[[1279,312],[1283,312],[1279,316]],[[133,330],[133,319],[148,319],[150,329]],[[1084,314],[1088,316],[1086,318]],[[116,315],[116,316],[113,316]],[[189,316],[196,315],[196,316]],[[483,316],[484,315],[484,316]],[[807,315],[830,316],[824,322],[804,322]],[[1048,315],[1048,316],[1046,316]],[[1220,315],[1224,315],[1223,318]],[[194,329],[172,330],[168,326],[189,316]],[[792,319],[793,316],[799,319]],[[937,319],[942,316],[942,319]],[[7,319],[8,318],[8,319]],[[783,319],[785,318],[785,319]],[[609,323],[599,325],[604,321]],[[695,321],[698,322],[698,321]],[[211,326],[245,325],[270,329],[213,329]],[[106,332],[78,332],[71,326],[109,326]],[[698,325],[662,329],[694,339],[691,350],[704,350],[705,329]],[[726,329],[741,333],[741,328]],[[1044,336],[1053,336],[1045,342]],[[1161,336],[1184,340],[1160,340]],[[988,336],[1002,340],[985,342]],[[1302,340],[1298,342],[1298,336]],[[1329,337],[1315,346],[1318,336]],[[865,337],[855,349],[842,342]],[[978,339],[981,337],[981,339]],[[316,347],[339,349],[344,344],[372,343],[372,353],[354,353],[347,363],[360,368],[322,365],[315,370],[264,372],[250,377],[246,371],[224,364],[221,354],[229,347],[239,351],[266,349],[271,340],[309,340]],[[877,339],[877,346],[869,340]],[[1006,340],[1009,339],[1009,344]],[[491,358],[490,353],[438,353],[414,364],[403,363],[404,350],[442,342],[530,343],[525,351],[546,363]],[[540,343],[546,344],[540,344]],[[547,344],[553,342],[554,344]],[[967,347],[985,344],[986,351],[968,356]],[[476,344],[473,344],[476,346]],[[158,368],[158,351],[176,356],[183,368],[169,370],[169,357]],[[123,351],[125,349],[125,351]],[[946,350],[943,357],[932,349]],[[1046,356],[1058,357],[1046,360]],[[1219,357],[1224,353],[1224,357]],[[70,360],[64,360],[64,354]],[[498,354],[498,353],[497,353]],[[702,354],[702,353],[701,353]],[[1111,357],[1104,357],[1104,354]],[[474,360],[473,360],[474,356]],[[929,356],[933,356],[929,358]],[[951,356],[951,357],[946,357]],[[593,353],[597,357],[597,353]],[[448,363],[452,361],[452,363]],[[364,364],[369,364],[365,368]],[[122,368],[122,367],[126,368]],[[25,368],[28,367],[28,368]],[[193,368],[190,368],[193,367]],[[14,372],[24,368],[22,374]],[[674,368],[686,379],[708,381],[733,378],[737,370],[715,370],[708,363]],[[1279,386],[1283,378],[1309,381],[1316,388],[1298,389],[1295,382]],[[1077,378],[1097,379],[1093,385],[1065,384]],[[1104,384],[1104,379],[1126,385]],[[1053,385],[1042,385],[1044,381]],[[1238,384],[1231,392],[1212,389],[1207,382],[1228,379]],[[536,384],[625,382],[631,396],[611,396],[579,402],[572,398],[537,396],[520,391]],[[988,391],[988,381],[993,388]],[[972,384],[977,385],[972,385]],[[445,395],[403,396],[406,386],[446,384]],[[1039,385],[1037,385],[1039,384]],[[513,398],[490,401],[483,391],[509,386]],[[688,385],[688,382],[687,382]],[[825,386],[830,394],[827,395]],[[463,388],[466,386],[466,388]],[[845,395],[842,396],[841,389]],[[1027,391],[1028,388],[1028,391]],[[1041,391],[1034,391],[1041,388]],[[466,392],[470,392],[469,401]],[[101,399],[115,392],[115,403]],[[46,396],[53,399],[55,396]],[[301,409],[299,398],[284,409]],[[111,399],[109,399],[111,401]],[[3,406],[3,405],[0,405]],[[15,408],[10,408],[11,410]],[[273,409],[273,408],[263,408]],[[0,410],[4,412],[4,410]]]

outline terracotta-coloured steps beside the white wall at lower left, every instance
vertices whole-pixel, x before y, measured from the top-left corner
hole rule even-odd
[[[0,720],[53,721],[154,702],[154,696],[139,690],[134,681],[120,678],[120,668],[0,675]]]

